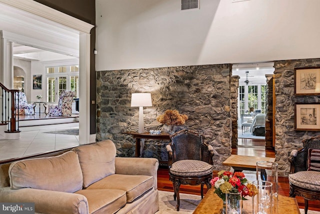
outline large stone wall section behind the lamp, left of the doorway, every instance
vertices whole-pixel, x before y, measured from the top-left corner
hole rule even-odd
[[[134,139],[122,134],[138,127],[131,93],[150,92],[152,107],[144,108],[145,129],[163,130],[156,117],[177,109],[189,117],[185,128],[202,133],[214,147],[214,170],[225,169],[221,163],[231,154],[230,77],[228,64],[98,71],[96,138],[111,139],[118,156],[134,156]],[[167,160],[167,143],[146,139],[142,156]]]

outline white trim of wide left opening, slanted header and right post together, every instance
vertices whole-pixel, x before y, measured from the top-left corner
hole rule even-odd
[[[79,31],[79,143],[90,141],[90,30],[93,25],[75,19],[59,11],[46,7],[32,0],[0,0],[0,3],[9,5],[36,16],[48,19],[63,26]],[[40,48],[40,47],[39,47]]]

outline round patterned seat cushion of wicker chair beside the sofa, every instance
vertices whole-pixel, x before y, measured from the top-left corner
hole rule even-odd
[[[212,173],[213,166],[200,160],[178,160],[172,163],[170,173],[179,176],[201,176]]]

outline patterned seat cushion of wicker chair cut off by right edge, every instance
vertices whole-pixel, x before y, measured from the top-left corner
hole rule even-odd
[[[320,172],[299,171],[289,174],[289,182],[293,185],[320,191]]]

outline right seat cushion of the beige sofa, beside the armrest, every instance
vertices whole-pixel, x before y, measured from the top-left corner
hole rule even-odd
[[[92,183],[87,189],[121,189],[126,192],[126,202],[131,202],[152,187],[152,176],[112,174]]]

